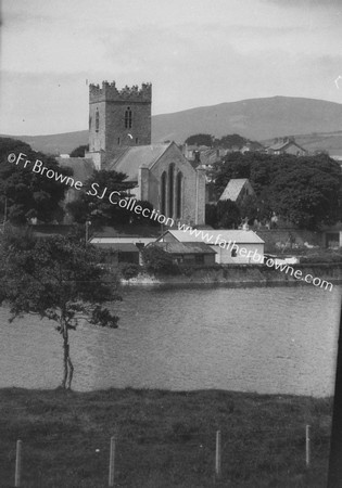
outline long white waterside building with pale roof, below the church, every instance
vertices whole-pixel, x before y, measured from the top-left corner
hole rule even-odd
[[[219,265],[264,262],[265,242],[250,230],[168,230],[157,241],[204,242],[215,251],[215,260]]]

